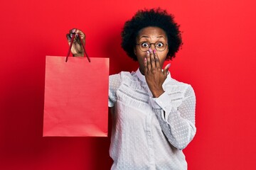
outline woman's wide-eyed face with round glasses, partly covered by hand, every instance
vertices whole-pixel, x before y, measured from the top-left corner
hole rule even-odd
[[[136,43],[142,45],[156,43],[156,45],[166,45],[168,43],[168,39],[164,30],[158,27],[146,27],[139,31],[139,35],[136,38]],[[150,45],[151,50],[156,50],[156,54],[159,57],[159,62],[161,68],[163,67],[164,61],[166,60],[166,56],[168,53],[168,46],[164,51],[158,51],[155,45]],[[139,70],[144,74],[144,58],[146,57],[146,52],[142,51],[139,45],[134,47],[134,54],[137,56],[137,60],[139,62]]]

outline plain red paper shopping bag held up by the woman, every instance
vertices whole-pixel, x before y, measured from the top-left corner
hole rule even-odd
[[[108,76],[108,58],[46,56],[43,136],[107,137]]]

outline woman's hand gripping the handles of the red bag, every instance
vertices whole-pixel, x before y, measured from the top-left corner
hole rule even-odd
[[[82,48],[82,43],[80,42],[80,39],[78,37],[78,34],[80,35],[83,44],[85,45],[85,33],[82,33],[82,30],[78,30],[76,28],[73,28],[69,31],[69,33],[66,35],[68,39],[68,45],[70,45],[70,41],[73,35],[75,35],[75,39],[73,41],[73,45],[71,47],[71,53],[74,57],[82,57],[84,56],[84,50]]]

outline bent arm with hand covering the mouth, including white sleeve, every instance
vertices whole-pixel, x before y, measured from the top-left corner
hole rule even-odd
[[[181,104],[174,106],[175,100],[171,93],[163,89],[164,81],[167,77],[169,66],[166,66],[164,72],[161,71],[159,57],[156,52],[146,53],[144,60],[144,74],[146,83],[154,98],[151,98],[151,105],[156,111],[161,129],[167,139],[178,149],[184,149],[196,134],[195,127],[195,106],[196,98],[191,86],[187,86]]]

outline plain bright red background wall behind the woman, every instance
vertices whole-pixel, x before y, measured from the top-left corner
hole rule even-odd
[[[158,6],[183,31],[171,75],[196,91],[188,169],[256,169],[254,0],[1,2],[0,169],[110,169],[110,138],[42,137],[45,56],[65,55],[76,27],[90,57],[110,57],[110,74],[135,70],[120,31],[138,9]]]

